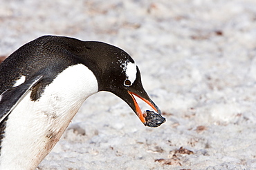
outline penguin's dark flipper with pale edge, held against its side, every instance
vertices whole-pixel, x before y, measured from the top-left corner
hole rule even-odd
[[[10,112],[15,109],[19,102],[28,94],[31,87],[37,84],[43,76],[36,76],[29,81],[17,86],[7,89],[0,95],[0,123]]]

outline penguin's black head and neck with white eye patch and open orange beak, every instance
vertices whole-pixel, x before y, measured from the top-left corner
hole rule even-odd
[[[131,56],[124,50],[107,43],[95,41],[88,43],[88,56],[98,56],[98,61],[91,69],[97,70],[94,73],[98,79],[98,90],[111,92],[125,100],[144,125],[147,125],[147,115],[143,114],[134,96],[142,99],[161,116],[161,110],[145,92],[141,83],[140,70]],[[91,61],[94,60],[91,59]],[[164,122],[165,118],[162,118],[161,123]]]

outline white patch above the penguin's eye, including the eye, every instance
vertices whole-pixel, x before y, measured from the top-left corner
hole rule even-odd
[[[124,83],[125,86],[131,86],[134,81],[136,80],[136,74],[137,74],[137,65],[135,63],[125,63],[124,67],[125,75],[127,76],[127,79],[125,80],[126,83]],[[127,83],[127,80],[131,83]]]

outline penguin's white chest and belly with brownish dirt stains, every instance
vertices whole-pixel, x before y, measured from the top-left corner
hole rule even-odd
[[[30,93],[8,116],[1,143],[0,169],[35,169],[53,149],[86,98],[98,83],[86,66],[68,67],[37,101]]]

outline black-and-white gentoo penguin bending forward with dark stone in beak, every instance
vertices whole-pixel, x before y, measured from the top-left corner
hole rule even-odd
[[[118,47],[64,36],[26,43],[0,64],[0,169],[35,169],[60,140],[86,98],[116,94],[150,127],[165,122]],[[134,96],[156,112],[140,110]]]

